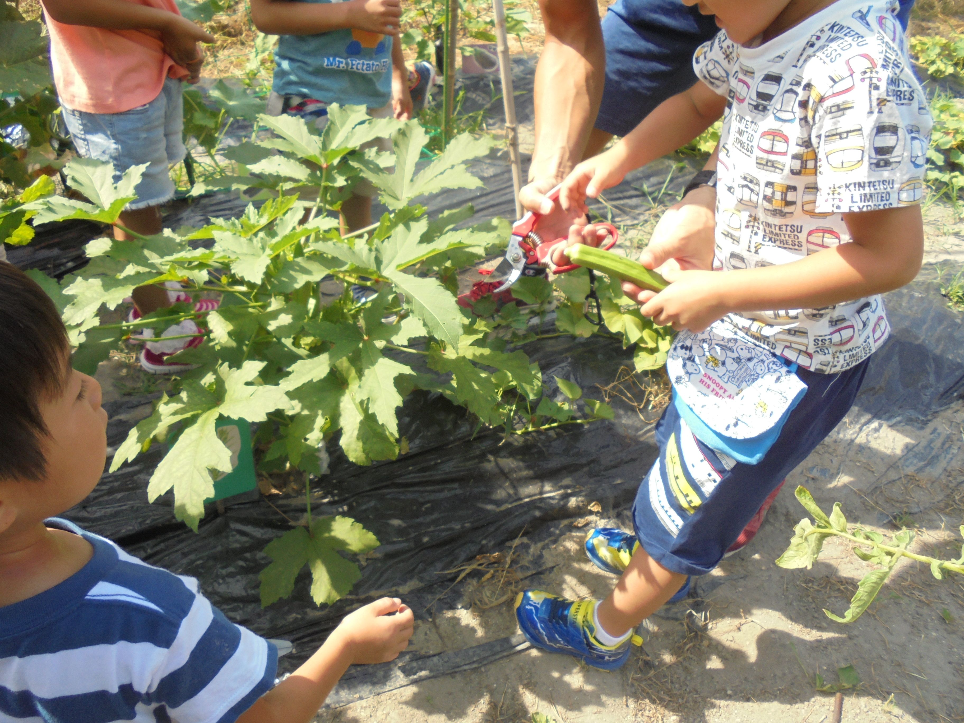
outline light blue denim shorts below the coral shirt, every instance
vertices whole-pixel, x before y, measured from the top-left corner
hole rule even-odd
[[[64,106],[64,120],[77,153],[110,161],[114,182],[131,166],[147,163],[127,210],[156,206],[174,198],[170,168],[184,160],[184,99],[181,81],[168,78],[161,93],[123,113],[87,113]]]

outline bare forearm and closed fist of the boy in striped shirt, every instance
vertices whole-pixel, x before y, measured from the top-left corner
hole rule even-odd
[[[391,614],[394,613],[394,614]],[[394,660],[412,637],[415,616],[382,598],[347,615],[298,670],[262,695],[237,723],[308,723],[353,663]]]

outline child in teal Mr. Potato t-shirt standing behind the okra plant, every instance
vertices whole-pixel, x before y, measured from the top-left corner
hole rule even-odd
[[[409,73],[398,36],[400,0],[251,0],[254,25],[280,36],[268,114],[313,121],[321,130],[328,106],[364,105],[375,118],[412,115]],[[372,146],[391,150],[388,139]],[[353,231],[371,224],[375,188],[367,181],[341,205]]]

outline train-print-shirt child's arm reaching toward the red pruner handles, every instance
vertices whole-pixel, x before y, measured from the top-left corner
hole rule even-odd
[[[583,161],[562,182],[559,201],[567,211],[587,212],[586,197],[597,198],[633,169],[645,166],[696,138],[723,115],[726,97],[702,81],[664,100],[622,141]]]

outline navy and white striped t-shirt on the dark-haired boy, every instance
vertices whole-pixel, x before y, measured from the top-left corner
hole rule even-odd
[[[213,607],[193,577],[71,522],[94,557],[0,607],[0,721],[228,723],[275,682],[278,651]]]

